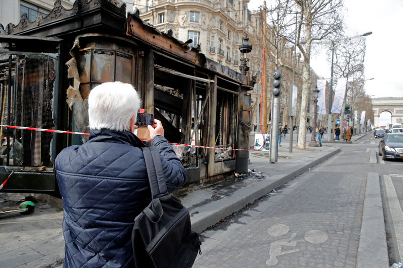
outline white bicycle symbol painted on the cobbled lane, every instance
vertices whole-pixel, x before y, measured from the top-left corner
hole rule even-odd
[[[276,224],[267,229],[267,233],[272,236],[283,236],[290,231],[290,227],[285,224]],[[298,248],[292,248],[289,250],[283,250],[284,246],[295,247],[297,245],[297,240],[294,240],[297,233],[292,233],[291,236],[281,238],[279,240],[273,241],[270,244],[269,259],[266,261],[268,266],[276,265],[279,260],[278,256],[284,254],[290,254],[299,251]],[[327,241],[327,234],[320,230],[310,230],[304,235],[304,239],[312,244],[320,244]]]

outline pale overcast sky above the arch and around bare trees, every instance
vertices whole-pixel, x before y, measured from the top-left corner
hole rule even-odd
[[[267,2],[268,3],[268,2]],[[249,10],[263,6],[263,0],[251,0]],[[366,32],[365,91],[371,98],[403,97],[403,1],[345,0],[346,32],[356,36]],[[322,77],[330,77],[326,51],[311,57],[311,66]]]

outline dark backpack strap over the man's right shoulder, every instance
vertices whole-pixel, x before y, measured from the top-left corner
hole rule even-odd
[[[162,169],[160,153],[154,147],[141,147],[146,161],[148,180],[152,199],[168,195],[165,175]]]

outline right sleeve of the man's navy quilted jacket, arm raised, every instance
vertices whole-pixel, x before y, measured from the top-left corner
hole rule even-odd
[[[182,161],[176,156],[171,144],[163,136],[155,136],[151,143],[160,153],[167,188],[171,193],[186,182],[186,170]]]

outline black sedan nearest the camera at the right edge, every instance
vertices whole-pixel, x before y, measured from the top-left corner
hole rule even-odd
[[[387,133],[379,141],[378,154],[382,159],[395,158],[403,159],[403,133]]]

